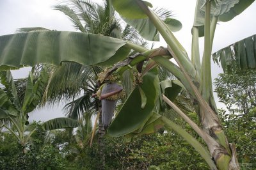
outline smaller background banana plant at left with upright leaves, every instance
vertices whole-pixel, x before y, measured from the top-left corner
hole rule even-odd
[[[23,147],[23,153],[26,151],[26,144],[31,140],[31,135],[36,130],[36,128],[27,130],[26,125],[29,123],[28,113],[33,111],[40,103],[45,84],[48,80],[45,70],[41,73],[36,81],[34,81],[33,74],[29,72],[24,98],[21,99],[17,95],[17,89],[10,70],[0,72],[1,84],[5,86],[5,88],[0,88],[0,120],[3,123],[1,128],[4,127],[15,135]],[[56,118],[46,121],[42,126],[45,130],[54,130],[56,128],[74,128],[78,125],[76,120],[70,118]]]

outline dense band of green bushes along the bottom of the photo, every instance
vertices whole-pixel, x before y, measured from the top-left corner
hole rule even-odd
[[[244,116],[228,114],[220,110],[220,118],[226,127],[230,142],[237,146],[242,169],[255,168],[256,132],[255,109]],[[189,117],[198,121],[195,113]],[[180,118],[182,125],[198,138],[189,125]],[[33,123],[37,130],[26,152],[12,134],[1,133],[0,169],[97,169],[98,144],[81,143],[79,132],[70,137],[70,130],[45,132],[40,123]],[[199,139],[202,141],[202,139]],[[155,134],[142,135],[126,143],[122,137],[106,137],[106,169],[209,169],[206,162],[180,135],[161,129]]]

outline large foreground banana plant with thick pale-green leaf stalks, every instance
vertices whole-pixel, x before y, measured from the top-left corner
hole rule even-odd
[[[131,137],[155,132],[157,128],[169,127],[182,135],[202,155],[211,169],[239,169],[236,147],[228,143],[224,127],[221,126],[218,118],[212,94],[210,61],[214,31],[218,21],[227,22],[233,19],[254,0],[196,1],[191,58],[172,33],[173,27],[172,24],[170,25],[172,19],[159,18],[150,10],[152,4],[141,0],[110,2],[125,22],[137,29],[144,38],[157,40],[156,36],[161,35],[168,47],[149,50],[132,42],[90,33],[63,31],[18,33],[0,36],[0,69],[35,66],[38,63],[61,65],[62,62],[73,61],[82,65],[116,64],[108,74],[122,75],[125,70],[134,70],[137,64],[149,60],[143,72],[134,73],[136,87],[120,111],[116,113],[115,119],[108,127],[108,133],[113,136]],[[202,61],[198,47],[200,36],[204,36]],[[138,54],[128,56],[131,50]],[[170,58],[175,59],[177,65],[170,61]],[[121,62],[117,63],[118,61]],[[179,88],[188,91],[200,118],[200,127],[173,103],[170,95],[166,95],[169,90],[165,89],[171,86],[169,84],[164,88],[163,83],[163,86],[160,86],[156,65],[163,66],[175,75],[179,84],[182,84]],[[175,86],[173,90],[177,91]],[[173,121],[159,114],[163,101],[193,127],[204,139],[207,148]]]

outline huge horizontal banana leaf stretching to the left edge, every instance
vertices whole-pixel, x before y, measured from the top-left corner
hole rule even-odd
[[[66,31],[33,31],[0,36],[0,68],[60,65],[74,61],[82,65],[112,65],[131,49],[126,42],[108,36]]]

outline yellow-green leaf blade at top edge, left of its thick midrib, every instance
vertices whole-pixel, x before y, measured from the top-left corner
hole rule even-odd
[[[141,1],[141,0],[138,0]],[[152,4],[147,1],[141,1],[145,3],[145,5],[152,7]],[[147,15],[141,10],[136,0],[111,0],[116,12],[120,13],[123,17],[127,19],[145,19]]]

